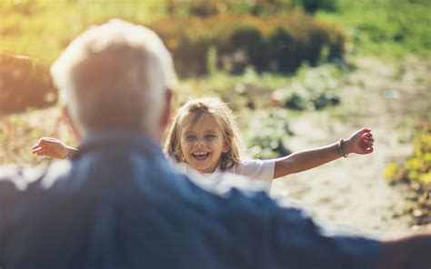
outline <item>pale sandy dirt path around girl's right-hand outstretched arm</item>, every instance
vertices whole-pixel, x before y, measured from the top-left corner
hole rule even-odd
[[[350,155],[319,168],[276,180],[273,191],[294,198],[325,222],[369,234],[395,235],[416,229],[408,207],[406,188],[386,184],[386,164],[402,160],[412,146],[408,138],[418,115],[431,112],[431,65],[416,57],[400,65],[374,59],[356,62],[357,70],[340,85],[342,105],[292,119],[294,151],[346,137],[367,126],[376,149],[370,155]],[[431,230],[431,224],[421,229]]]

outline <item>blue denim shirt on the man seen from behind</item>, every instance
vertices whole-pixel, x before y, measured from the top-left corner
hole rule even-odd
[[[45,171],[0,167],[2,269],[365,269],[379,252],[265,191],[199,186],[137,134],[95,134]]]

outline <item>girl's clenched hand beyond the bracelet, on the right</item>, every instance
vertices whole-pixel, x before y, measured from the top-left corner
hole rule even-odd
[[[346,154],[371,154],[374,151],[373,143],[371,129],[362,128],[345,141]]]

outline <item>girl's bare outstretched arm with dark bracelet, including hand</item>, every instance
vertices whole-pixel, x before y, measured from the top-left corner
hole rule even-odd
[[[274,178],[286,174],[306,171],[321,164],[326,164],[348,154],[371,154],[373,152],[373,134],[368,128],[362,128],[334,144],[300,151],[276,159]]]

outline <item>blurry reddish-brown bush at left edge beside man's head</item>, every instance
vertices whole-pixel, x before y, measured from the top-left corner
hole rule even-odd
[[[53,105],[56,98],[45,65],[26,56],[0,54],[0,115]]]

